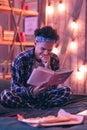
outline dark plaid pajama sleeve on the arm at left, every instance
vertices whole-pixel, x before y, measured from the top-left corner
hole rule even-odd
[[[23,97],[33,95],[33,87],[27,84],[28,79],[28,63],[27,59],[17,61],[16,59],[12,63],[11,72],[11,89]],[[24,64],[25,62],[25,64]]]

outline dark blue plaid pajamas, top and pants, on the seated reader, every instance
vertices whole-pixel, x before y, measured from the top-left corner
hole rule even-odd
[[[11,90],[1,92],[1,103],[6,107],[48,108],[61,106],[69,100],[70,88],[55,85],[43,93],[33,95],[33,87],[27,84],[27,80],[35,67],[43,66],[35,61],[34,48],[18,55],[12,63]],[[55,54],[51,55],[51,69],[59,69],[59,59]]]

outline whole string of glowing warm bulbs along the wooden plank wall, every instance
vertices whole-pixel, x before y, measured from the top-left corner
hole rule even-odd
[[[64,4],[64,2],[62,0],[58,0],[58,1],[59,1],[58,2],[58,6],[57,6],[58,12],[62,14],[65,11],[65,4]],[[53,8],[51,2],[48,2],[48,6],[46,7],[46,9],[47,9],[47,14],[49,14],[49,15],[53,14],[54,8]],[[77,22],[77,19],[73,19],[72,20],[72,18],[70,19],[69,24],[68,24],[69,25],[69,29],[71,30],[71,34],[73,36],[72,41],[70,42],[70,44],[68,46],[69,47],[68,51],[71,51],[73,53],[77,53],[78,43],[77,43],[75,37],[76,37],[76,34],[77,34],[78,27],[80,28],[79,24],[80,24],[80,22]],[[57,55],[59,55],[60,51],[61,51],[61,49],[59,48],[59,46],[58,47],[54,47],[53,50],[52,50],[52,52],[57,54]],[[85,65],[81,65],[78,68],[78,70],[75,72],[76,78],[79,81],[83,82],[84,79],[85,79],[85,76],[86,76],[86,72],[87,72],[86,66]]]

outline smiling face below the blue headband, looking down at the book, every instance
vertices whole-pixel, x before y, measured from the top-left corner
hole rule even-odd
[[[45,63],[49,62],[53,46],[54,46],[53,43],[47,43],[47,42],[36,43],[35,44],[35,56],[36,56],[36,58],[38,60],[41,60],[42,62],[45,62]]]

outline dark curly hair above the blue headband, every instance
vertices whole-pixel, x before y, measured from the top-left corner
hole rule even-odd
[[[55,42],[59,40],[59,35],[57,34],[57,31],[51,26],[44,26],[42,28],[36,29],[34,35],[35,37],[41,36],[44,38],[49,38],[51,40],[54,40]]]

